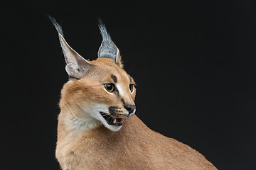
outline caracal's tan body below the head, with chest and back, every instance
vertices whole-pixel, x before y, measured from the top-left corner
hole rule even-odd
[[[104,126],[70,133],[59,116],[56,157],[62,169],[215,169],[187,145],[150,130],[136,115],[113,132]]]

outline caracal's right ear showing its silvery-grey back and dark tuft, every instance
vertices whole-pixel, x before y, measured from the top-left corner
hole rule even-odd
[[[102,43],[98,51],[98,58],[105,57],[114,60],[114,62],[123,67],[119,49],[112,41],[110,34],[107,33],[107,28],[101,19],[99,19],[100,34],[102,35]]]

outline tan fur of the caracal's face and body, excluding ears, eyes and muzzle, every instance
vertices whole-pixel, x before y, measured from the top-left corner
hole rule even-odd
[[[125,109],[120,98],[134,103],[136,94],[136,89],[132,94],[129,91],[134,80],[113,60],[100,58],[90,63],[94,67],[85,77],[68,81],[61,92],[56,157],[63,170],[216,169],[191,147],[150,130],[136,115],[125,118],[117,132],[100,122],[89,130],[80,128],[79,120],[90,117],[85,112],[95,103],[119,106],[122,113]],[[125,95],[105,91],[103,84],[113,81],[111,74]]]

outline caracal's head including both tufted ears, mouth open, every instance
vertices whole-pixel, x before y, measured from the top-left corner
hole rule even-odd
[[[88,61],[68,45],[58,23],[50,19],[58,30],[70,77],[63,86],[60,109],[79,123],[94,123],[91,128],[103,124],[110,130],[119,130],[125,118],[136,111],[136,89],[134,79],[122,68],[121,55],[105,25],[99,25],[103,40],[98,58]]]

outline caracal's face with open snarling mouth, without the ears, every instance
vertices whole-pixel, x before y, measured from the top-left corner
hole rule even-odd
[[[99,58],[90,63],[93,67],[82,78],[70,79],[64,86],[63,97],[70,106],[77,106],[77,118],[95,118],[117,131],[136,111],[134,79],[112,59]]]

